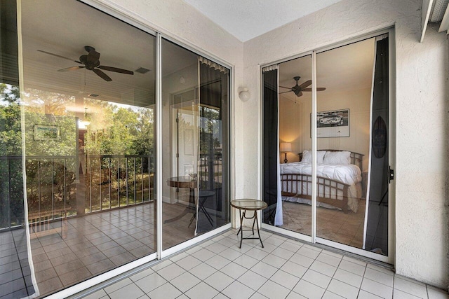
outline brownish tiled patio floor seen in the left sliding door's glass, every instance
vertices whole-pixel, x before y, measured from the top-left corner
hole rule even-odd
[[[183,204],[163,204],[163,218],[173,218]],[[163,225],[163,248],[194,237],[192,214]],[[140,204],[67,219],[67,237],[60,236],[61,221],[50,224],[51,235],[32,232],[31,248],[40,295],[89,279],[156,251],[154,205]],[[58,233],[56,233],[58,232]],[[0,298],[21,298],[34,293],[24,229],[0,233]]]

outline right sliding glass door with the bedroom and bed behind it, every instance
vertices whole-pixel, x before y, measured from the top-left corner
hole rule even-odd
[[[382,34],[262,69],[264,223],[388,260],[388,54]]]

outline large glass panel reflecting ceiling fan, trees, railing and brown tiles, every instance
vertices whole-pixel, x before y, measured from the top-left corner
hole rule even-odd
[[[23,0],[22,42],[30,260],[47,295],[156,251],[156,38],[80,1]]]

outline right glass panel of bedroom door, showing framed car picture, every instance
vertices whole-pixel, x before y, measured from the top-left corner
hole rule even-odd
[[[378,108],[388,107],[388,92],[384,95],[375,92],[379,81],[382,84],[388,79],[373,80],[373,74],[379,72],[374,64],[375,55],[375,38],[316,55],[317,116],[314,125],[319,153],[324,153],[323,159],[317,162],[316,236],[386,254],[385,247],[373,248],[374,236],[370,235],[375,233],[370,229],[382,230],[386,224],[381,223],[381,210],[387,203],[385,198],[382,201],[381,190],[388,184],[376,186],[375,190],[379,191],[376,195],[374,190],[368,193],[370,182],[371,186],[374,182],[382,186],[385,174],[383,167],[373,171],[373,163],[378,163],[373,142],[378,134],[375,127],[387,132],[387,125],[376,124],[373,118],[382,114],[383,119],[388,120],[388,110]],[[388,69],[383,71],[388,72]],[[383,138],[381,160],[388,165],[386,136],[379,138]]]

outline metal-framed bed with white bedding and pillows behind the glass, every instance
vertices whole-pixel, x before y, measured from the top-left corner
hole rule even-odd
[[[311,152],[300,153],[300,162],[279,165],[283,201],[311,204]],[[361,198],[363,154],[351,151],[317,151],[317,206],[358,209]]]

